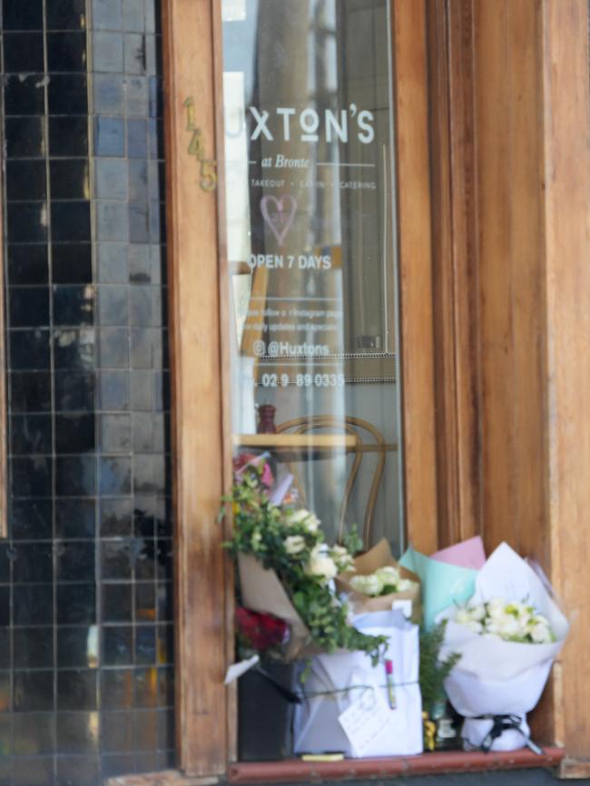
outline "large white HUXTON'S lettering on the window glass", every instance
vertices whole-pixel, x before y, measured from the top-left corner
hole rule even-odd
[[[334,112],[326,109],[318,112],[311,107],[298,113],[292,106],[278,106],[274,113],[266,109],[260,110],[250,106],[248,112],[254,121],[251,126],[250,138],[252,141],[265,139],[274,142],[282,139],[290,142],[294,137],[299,137],[301,142],[319,142],[323,136],[327,142],[349,142],[349,136],[356,135],[359,142],[370,144],[375,139],[375,118],[367,109],[360,110],[356,103],[351,103],[347,109]],[[238,136],[241,133],[243,118],[240,128],[231,127],[226,123],[228,136]],[[235,123],[234,123],[235,125]]]

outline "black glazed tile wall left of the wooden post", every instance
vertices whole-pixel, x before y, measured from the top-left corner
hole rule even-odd
[[[0,786],[174,765],[159,0],[4,0]]]

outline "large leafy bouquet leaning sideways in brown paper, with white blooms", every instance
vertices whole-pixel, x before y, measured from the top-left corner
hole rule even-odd
[[[327,545],[310,511],[271,501],[265,467],[263,462],[242,467],[225,500],[233,513],[226,546],[237,558],[242,603],[289,624],[287,660],[314,645],[327,653],[360,650],[377,661],[385,639],[352,627],[348,606],[339,603],[332,588],[332,580],[351,569],[350,549],[358,538]]]

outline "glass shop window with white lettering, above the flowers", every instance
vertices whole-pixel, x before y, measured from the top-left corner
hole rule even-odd
[[[232,431],[331,539],[402,546],[387,0],[226,0]]]

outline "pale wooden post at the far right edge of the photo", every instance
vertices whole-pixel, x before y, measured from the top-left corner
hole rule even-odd
[[[551,576],[572,627],[556,670],[565,777],[590,775],[590,58],[587,0],[545,0],[546,423]]]

